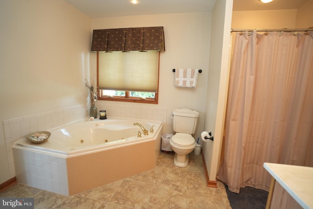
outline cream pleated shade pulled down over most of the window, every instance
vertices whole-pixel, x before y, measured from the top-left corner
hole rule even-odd
[[[157,92],[159,51],[98,51],[100,90]]]

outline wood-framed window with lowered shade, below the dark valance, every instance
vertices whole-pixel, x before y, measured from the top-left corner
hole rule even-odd
[[[98,51],[98,99],[157,104],[158,71],[158,50]]]

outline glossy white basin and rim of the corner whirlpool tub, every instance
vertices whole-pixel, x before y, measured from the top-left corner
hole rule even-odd
[[[142,129],[134,123],[139,122],[148,131],[153,126],[154,133],[144,136]],[[48,130],[50,138],[44,143],[31,143],[27,139],[15,142],[16,146],[46,153],[73,156],[92,151],[112,149],[143,140],[155,139],[155,133],[161,128],[162,122],[154,120],[138,120],[125,118],[108,118],[105,120],[87,120],[85,118],[68,125]],[[140,131],[141,137],[137,137]]]

